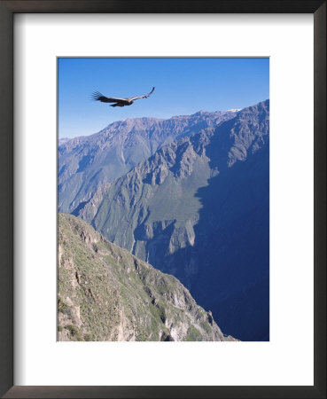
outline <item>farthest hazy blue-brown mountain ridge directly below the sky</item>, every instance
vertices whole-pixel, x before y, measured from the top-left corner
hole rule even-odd
[[[149,158],[162,145],[215,127],[234,112],[116,121],[95,135],[75,137],[58,147],[58,209],[72,213],[90,200],[99,184],[112,182]]]

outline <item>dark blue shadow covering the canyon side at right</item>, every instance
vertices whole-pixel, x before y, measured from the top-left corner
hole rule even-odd
[[[208,150],[220,174],[197,193],[191,293],[224,333],[269,340],[269,143],[231,168]]]

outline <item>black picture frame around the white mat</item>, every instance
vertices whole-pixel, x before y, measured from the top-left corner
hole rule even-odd
[[[13,386],[13,15],[17,12],[313,13],[315,36],[314,386]],[[325,398],[326,397],[326,1],[37,0],[0,1],[0,395],[6,398]],[[305,322],[305,321],[304,321]],[[300,348],[299,348],[300,350]]]

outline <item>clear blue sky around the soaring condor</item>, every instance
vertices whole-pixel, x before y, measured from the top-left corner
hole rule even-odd
[[[134,97],[132,106],[93,101]],[[269,59],[58,59],[58,136],[88,136],[113,121],[252,106],[269,98]]]

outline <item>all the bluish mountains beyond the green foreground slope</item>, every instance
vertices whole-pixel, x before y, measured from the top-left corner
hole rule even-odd
[[[179,278],[223,332],[269,340],[269,100],[115,122],[58,164],[60,210]]]

